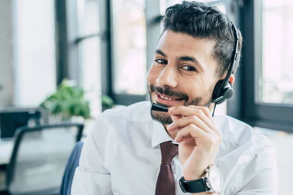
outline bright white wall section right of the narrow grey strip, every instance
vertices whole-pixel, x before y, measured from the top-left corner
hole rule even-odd
[[[15,0],[15,105],[38,106],[56,89],[55,2]]]

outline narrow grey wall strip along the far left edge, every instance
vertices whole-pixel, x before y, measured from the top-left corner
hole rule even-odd
[[[0,0],[0,108],[13,103],[12,0]]]

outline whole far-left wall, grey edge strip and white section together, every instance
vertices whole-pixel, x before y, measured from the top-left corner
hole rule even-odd
[[[0,108],[38,106],[56,89],[54,0],[0,0]]]

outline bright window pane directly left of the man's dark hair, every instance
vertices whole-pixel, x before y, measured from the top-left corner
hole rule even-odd
[[[112,1],[114,93],[146,95],[145,0]]]

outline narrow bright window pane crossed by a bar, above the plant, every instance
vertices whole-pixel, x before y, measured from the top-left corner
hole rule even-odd
[[[90,100],[91,116],[101,112],[99,0],[77,1],[79,85]]]

